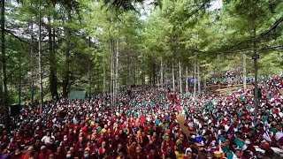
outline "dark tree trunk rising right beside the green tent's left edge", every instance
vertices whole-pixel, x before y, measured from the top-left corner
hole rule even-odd
[[[68,21],[72,22],[71,12],[68,13]],[[63,96],[67,97],[69,94],[70,87],[70,56],[71,56],[71,28],[66,28],[67,33],[67,49],[65,51],[65,74],[63,79]]]

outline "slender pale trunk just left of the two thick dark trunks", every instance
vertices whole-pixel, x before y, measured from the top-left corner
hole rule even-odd
[[[38,39],[38,63],[39,63],[39,83],[40,83],[40,111],[43,106],[43,72],[42,72],[42,1],[39,1],[39,39]]]

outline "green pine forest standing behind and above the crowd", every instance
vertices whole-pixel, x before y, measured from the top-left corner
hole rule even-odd
[[[114,110],[120,89],[145,84],[197,95],[253,73],[255,51],[260,74],[282,71],[283,2],[215,2],[158,0],[142,19],[142,0],[2,0],[1,104],[88,90]]]

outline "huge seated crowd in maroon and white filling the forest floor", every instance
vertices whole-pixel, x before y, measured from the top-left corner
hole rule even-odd
[[[114,113],[110,94],[90,100],[61,97],[46,102],[42,113],[27,106],[1,124],[0,159],[249,159],[280,154],[283,73],[263,76],[259,83],[257,117],[252,87],[226,95],[136,87],[120,92]]]

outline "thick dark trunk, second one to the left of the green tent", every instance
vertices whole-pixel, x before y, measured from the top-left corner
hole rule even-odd
[[[50,47],[50,93],[52,97],[58,98],[57,93],[57,67],[56,67],[56,57],[55,57],[55,51],[54,51],[54,43],[52,42],[52,39],[54,36],[52,36],[52,24],[51,24],[51,16],[48,17],[48,42]]]

